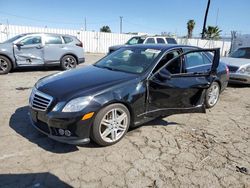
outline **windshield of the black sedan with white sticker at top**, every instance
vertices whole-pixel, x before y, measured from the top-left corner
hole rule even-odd
[[[160,50],[149,48],[121,48],[98,61],[94,66],[114,71],[140,74],[159,56]]]

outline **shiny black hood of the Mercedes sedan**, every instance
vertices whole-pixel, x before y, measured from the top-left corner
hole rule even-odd
[[[136,77],[138,75],[89,65],[44,77],[37,82],[36,88],[59,101],[65,101],[79,96],[92,96]]]

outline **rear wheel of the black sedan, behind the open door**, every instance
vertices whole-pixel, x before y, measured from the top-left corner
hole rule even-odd
[[[220,86],[217,82],[213,82],[207,89],[205,104],[207,108],[212,108],[216,105],[220,96]]]

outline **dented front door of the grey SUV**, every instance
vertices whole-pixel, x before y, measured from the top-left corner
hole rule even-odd
[[[18,65],[41,65],[44,63],[44,49],[40,35],[29,35],[13,46]]]

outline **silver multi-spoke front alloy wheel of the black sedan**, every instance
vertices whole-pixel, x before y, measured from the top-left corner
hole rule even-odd
[[[128,115],[121,108],[114,108],[108,111],[102,118],[99,126],[99,133],[105,142],[119,140],[127,130]]]

